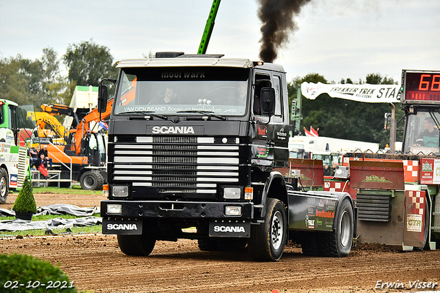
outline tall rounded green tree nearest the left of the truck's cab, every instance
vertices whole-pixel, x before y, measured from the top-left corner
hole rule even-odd
[[[92,39],[69,45],[63,60],[69,69],[69,81],[76,85],[97,87],[102,78],[118,76],[109,48],[94,43]]]

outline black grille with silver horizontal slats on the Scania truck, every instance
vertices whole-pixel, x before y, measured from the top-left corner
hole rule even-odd
[[[235,138],[137,137],[113,142],[112,163],[113,183],[150,186],[159,193],[217,193],[217,184],[239,182]]]

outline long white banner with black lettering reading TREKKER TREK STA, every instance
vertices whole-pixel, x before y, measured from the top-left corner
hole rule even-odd
[[[331,98],[358,102],[400,102],[400,85],[303,83],[301,93],[310,100],[315,100],[320,94],[328,94]]]

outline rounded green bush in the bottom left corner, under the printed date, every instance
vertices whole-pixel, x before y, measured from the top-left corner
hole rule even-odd
[[[78,292],[59,263],[55,267],[26,254],[0,254],[0,268],[0,292]]]

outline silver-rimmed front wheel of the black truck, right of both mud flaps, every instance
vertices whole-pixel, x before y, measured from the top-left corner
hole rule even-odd
[[[267,199],[264,224],[252,225],[248,249],[255,261],[278,261],[287,239],[287,217],[284,205]]]

